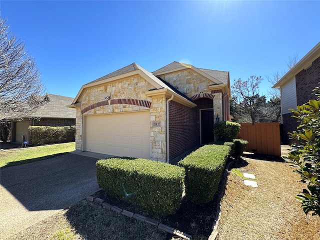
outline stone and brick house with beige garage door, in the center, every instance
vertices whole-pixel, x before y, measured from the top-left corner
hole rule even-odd
[[[136,63],[83,85],[76,108],[76,150],[172,160],[214,140],[228,120],[228,71],[174,61],[153,72]]]

